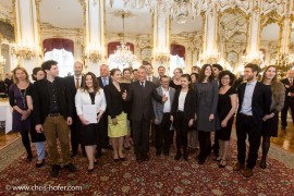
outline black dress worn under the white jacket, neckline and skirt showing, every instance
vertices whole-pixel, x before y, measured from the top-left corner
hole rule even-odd
[[[95,105],[95,94],[89,93],[91,105]],[[100,123],[101,121],[99,121]],[[81,135],[82,135],[82,144],[85,146],[97,145],[98,143],[98,124],[99,123],[90,123],[87,125],[82,124],[81,122]]]

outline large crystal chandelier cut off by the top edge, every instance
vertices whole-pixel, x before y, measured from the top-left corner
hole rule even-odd
[[[148,8],[152,13],[171,17],[184,24],[187,17],[200,15],[204,7],[201,0],[123,0],[125,11]]]

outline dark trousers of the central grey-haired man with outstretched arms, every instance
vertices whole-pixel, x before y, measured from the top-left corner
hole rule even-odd
[[[149,151],[150,120],[143,118],[140,121],[132,121],[132,128],[136,156],[146,155]]]

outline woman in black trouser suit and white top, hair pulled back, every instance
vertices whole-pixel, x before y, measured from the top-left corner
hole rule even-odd
[[[182,88],[174,94],[174,99],[171,109],[171,121],[174,124],[176,133],[176,155],[175,160],[179,160],[182,155],[188,160],[187,155],[187,131],[193,125],[195,119],[195,93],[191,87],[191,76],[183,74],[181,76]],[[183,147],[183,154],[181,148]]]

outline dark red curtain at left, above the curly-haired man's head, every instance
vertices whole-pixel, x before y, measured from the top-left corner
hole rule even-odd
[[[74,56],[74,41],[71,39],[63,38],[50,38],[42,41],[44,54],[53,49],[64,49],[69,52],[72,52]]]

